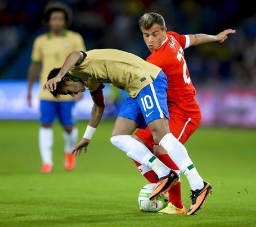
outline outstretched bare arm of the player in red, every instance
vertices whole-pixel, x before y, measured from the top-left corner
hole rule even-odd
[[[228,38],[228,35],[234,34],[234,33],[236,33],[236,30],[227,29],[217,35],[206,35],[206,34],[188,35],[190,38],[190,47],[204,44],[204,43],[212,43],[212,42],[223,43]]]

